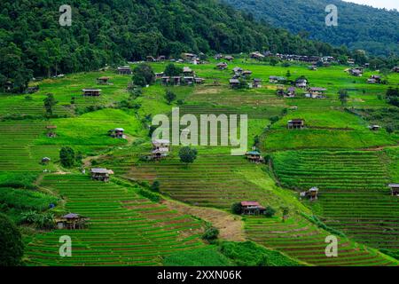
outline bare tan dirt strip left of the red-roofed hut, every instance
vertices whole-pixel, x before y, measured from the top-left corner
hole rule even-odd
[[[200,217],[212,223],[212,225],[219,229],[219,237],[223,240],[246,241],[244,236],[244,223],[239,216],[234,216],[218,209],[189,206],[171,200],[162,201],[162,204],[168,206],[169,209],[176,209],[180,213]]]

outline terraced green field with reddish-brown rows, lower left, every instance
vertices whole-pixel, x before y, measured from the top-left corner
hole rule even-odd
[[[30,265],[157,265],[161,256],[201,248],[200,221],[138,195],[132,188],[78,175],[50,175],[42,185],[66,199],[66,211],[90,217],[84,230],[35,235]],[[72,240],[72,256],[59,256],[59,237]]]

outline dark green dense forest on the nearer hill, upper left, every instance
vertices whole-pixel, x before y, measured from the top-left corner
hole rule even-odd
[[[71,0],[71,27],[59,25],[62,4],[65,1],[1,1],[0,87],[8,83],[22,91],[32,76],[182,51],[345,52],[255,22],[216,0]]]

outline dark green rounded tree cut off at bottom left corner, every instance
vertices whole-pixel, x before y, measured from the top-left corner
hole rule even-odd
[[[23,254],[20,231],[9,217],[0,213],[0,266],[20,265]]]

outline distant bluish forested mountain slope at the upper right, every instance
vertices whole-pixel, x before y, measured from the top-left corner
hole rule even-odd
[[[399,54],[399,12],[340,0],[223,0],[270,25],[311,39],[363,49],[374,55]],[[338,8],[338,26],[325,25],[325,7]]]

